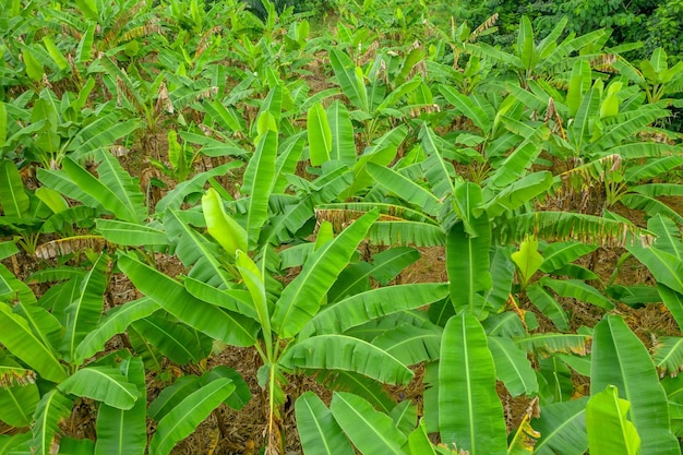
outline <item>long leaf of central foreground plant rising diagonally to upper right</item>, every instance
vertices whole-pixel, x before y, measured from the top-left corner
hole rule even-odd
[[[275,306],[272,323],[277,334],[285,338],[296,335],[317,313],[323,297],[379,216],[376,211],[361,216],[308,258]]]

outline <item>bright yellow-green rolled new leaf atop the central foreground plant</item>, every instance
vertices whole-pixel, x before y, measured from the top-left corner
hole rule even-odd
[[[202,211],[208,234],[230,256],[235,256],[237,250],[248,251],[247,231],[228,216],[218,192],[213,188],[209,188],[202,196]]]

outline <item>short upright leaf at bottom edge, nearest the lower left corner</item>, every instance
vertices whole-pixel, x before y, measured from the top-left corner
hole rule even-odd
[[[62,395],[57,388],[43,395],[36,412],[35,423],[32,427],[32,452],[36,455],[52,455],[53,447],[59,446],[59,423],[71,416],[73,400]]]

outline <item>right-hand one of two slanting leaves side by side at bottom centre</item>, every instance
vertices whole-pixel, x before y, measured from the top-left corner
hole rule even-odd
[[[391,417],[373,409],[361,397],[336,392],[329,410],[361,453],[404,455],[400,447],[407,441],[405,434],[398,431]]]

